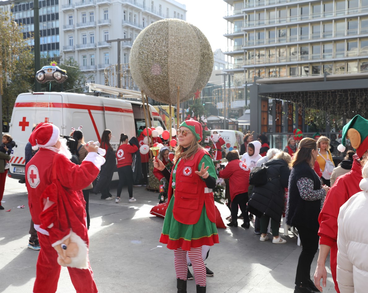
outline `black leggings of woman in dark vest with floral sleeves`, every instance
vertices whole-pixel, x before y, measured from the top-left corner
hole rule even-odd
[[[311,264],[318,249],[318,232],[305,226],[296,226],[302,249],[299,255],[295,285],[307,287],[311,279]]]

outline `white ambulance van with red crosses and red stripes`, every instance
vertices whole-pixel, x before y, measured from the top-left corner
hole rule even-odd
[[[166,129],[159,113],[149,105],[152,126]],[[17,146],[13,148],[8,176],[24,179],[24,148],[33,124],[53,123],[61,135],[70,135],[72,128],[82,126],[84,140],[100,141],[102,132],[110,129],[110,144],[116,150],[120,134],[129,139],[140,126],[145,127],[142,103],[138,101],[67,92],[34,92],[18,95],[9,124],[9,134]],[[114,174],[117,179],[117,174]]]

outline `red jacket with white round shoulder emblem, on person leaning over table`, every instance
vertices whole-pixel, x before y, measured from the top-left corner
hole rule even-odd
[[[241,160],[232,160],[220,170],[219,177],[229,178],[231,201],[236,195],[248,192],[249,173],[248,166]]]

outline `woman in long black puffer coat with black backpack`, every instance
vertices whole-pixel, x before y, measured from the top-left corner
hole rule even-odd
[[[279,151],[273,159],[265,163],[266,184],[255,186],[248,201],[248,211],[260,218],[260,241],[268,240],[267,229],[271,219],[272,243],[282,244],[286,240],[279,237],[279,226],[284,209],[285,188],[289,184],[289,163],[291,156]]]

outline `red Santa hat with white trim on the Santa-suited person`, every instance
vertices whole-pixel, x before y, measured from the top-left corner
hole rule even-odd
[[[59,140],[60,130],[51,123],[39,123],[29,137],[32,149],[51,147]]]

